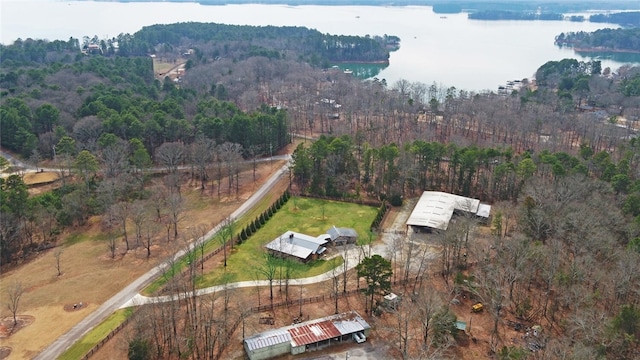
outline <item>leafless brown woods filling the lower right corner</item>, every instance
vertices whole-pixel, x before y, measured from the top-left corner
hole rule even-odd
[[[471,280],[458,283],[491,316],[494,351],[498,324],[514,316],[559,329],[541,340],[549,357],[633,358],[640,335],[634,315],[640,253],[632,246],[638,224],[627,222],[619,202],[608,185],[582,174],[536,174],[517,207],[494,215],[493,246],[471,247],[479,265]],[[521,231],[505,234],[507,217]]]

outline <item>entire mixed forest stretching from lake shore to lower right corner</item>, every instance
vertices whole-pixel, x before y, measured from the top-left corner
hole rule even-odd
[[[292,186],[301,192],[401,204],[441,190],[494,204],[493,247],[474,247],[474,226],[459,221],[457,230],[434,235],[444,250],[433,265],[447,290],[484,300],[495,324],[491,351],[523,351],[498,327],[519,314],[550,329],[539,349],[546,358],[637,354],[640,68],[550,61],[535,79],[473,93],[360,81],[321,66],[355,56],[342,53],[356,48],[345,44],[362,44],[361,54],[386,48],[384,37],[273,28],[258,41],[255,29],[230,27],[238,37],[222,39],[218,26],[0,48],[3,148],[67,175],[37,196],[20,175],[0,180],[3,264],[55,244],[66,226],[85,226],[94,215],[105,237],[123,237],[127,250],[152,231],[145,209],[164,221],[155,231],[177,236],[185,183],[233,194],[244,161],[271,155],[293,136],[312,137],[293,153]],[[309,43],[287,43],[281,31]],[[87,44],[102,51],[83,53]],[[314,56],[314,46],[324,49]],[[184,61],[185,73],[163,78],[154,61]],[[155,166],[161,180],[151,185],[145,170]],[[130,238],[127,222],[137,229]],[[420,354],[455,358],[446,351],[453,335],[430,336],[434,311],[408,311],[434,306],[421,294],[406,298],[419,306],[398,313],[418,332],[398,331]]]

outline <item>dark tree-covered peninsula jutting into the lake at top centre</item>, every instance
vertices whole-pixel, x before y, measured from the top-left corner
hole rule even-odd
[[[397,37],[389,36],[346,36],[322,34],[304,27],[224,25],[212,23],[180,23],[146,26],[133,36],[119,36],[121,55],[144,56],[155,53],[156,48],[181,48],[190,44],[224,43],[224,48],[205,51],[194,46],[197,62],[207,62],[217,57],[230,57],[231,45],[253,49],[258,45],[274,51],[269,57],[301,57],[314,64],[328,62],[387,61],[387,45],[397,42]],[[247,52],[251,54],[251,51]]]

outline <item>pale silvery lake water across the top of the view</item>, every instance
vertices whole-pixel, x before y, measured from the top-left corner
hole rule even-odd
[[[376,77],[455,86],[469,91],[497,90],[508,80],[531,78],[549,60],[590,60],[553,44],[561,32],[594,31],[607,24],[569,21],[478,21],[466,14],[434,14],[428,6],[287,6],[197,3],[118,3],[55,0],[0,0],[0,42],[17,38],[68,40],[131,33],[143,26],[175,22],[305,26],[323,33],[397,35],[398,51]],[[603,68],[640,64],[640,55],[597,54]],[[343,65],[344,66],[344,65]]]

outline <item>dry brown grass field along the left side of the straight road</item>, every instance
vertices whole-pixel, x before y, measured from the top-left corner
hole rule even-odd
[[[185,186],[188,208],[180,223],[182,233],[186,234],[185,229],[191,226],[203,224],[211,228],[221,222],[268,178],[272,170],[283,164],[283,161],[260,163],[255,183],[252,169],[246,169],[240,176],[241,189],[237,197],[235,194],[224,197],[223,191],[221,199],[218,199],[217,193],[201,193],[197,187]],[[44,176],[46,173],[34,175]],[[188,177],[186,181],[188,182]],[[288,179],[283,179],[272,192],[274,197],[282,194],[287,186]],[[175,251],[175,244],[179,242],[167,243],[161,232],[159,240],[152,247],[150,258],[146,258],[146,250],[143,248],[123,253],[122,243],[118,249],[119,255],[111,259],[107,241],[101,236],[99,228],[100,219],[91,218],[86,226],[70,229],[62,234],[59,240],[61,245],[57,248],[44,251],[27,263],[3,269],[0,294],[5,295],[7,287],[14,282],[21,282],[25,291],[19,303],[18,315],[21,319],[33,321],[10,334],[10,329],[3,329],[0,325],[0,358],[5,358],[2,355],[8,349],[9,359],[33,358],[103,301],[163,261]],[[55,259],[55,253],[59,250],[62,250],[61,276],[57,276]],[[2,317],[10,317],[5,301],[6,296],[3,296],[0,314]],[[73,304],[80,302],[83,303],[82,308],[68,311],[69,307],[73,309]],[[12,323],[11,321],[10,324]]]

